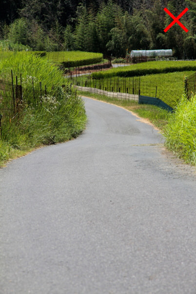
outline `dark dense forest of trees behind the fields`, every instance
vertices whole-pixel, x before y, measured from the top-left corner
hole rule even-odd
[[[186,33],[163,10],[180,19]],[[101,52],[125,57],[137,49],[173,49],[196,59],[196,0],[1,0],[0,50]]]

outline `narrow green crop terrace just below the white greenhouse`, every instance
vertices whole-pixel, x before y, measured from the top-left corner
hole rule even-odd
[[[184,71],[196,71],[196,61],[148,61],[92,73],[91,76],[93,78],[135,77]]]

